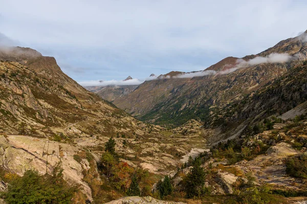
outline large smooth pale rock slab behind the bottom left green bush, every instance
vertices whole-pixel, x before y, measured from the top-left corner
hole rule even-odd
[[[53,167],[60,162],[64,179],[71,184],[80,185],[84,194],[92,199],[91,188],[82,181],[82,171],[88,171],[91,168],[90,164],[86,159],[81,162],[74,159],[74,155],[82,151],[80,147],[45,139],[0,136],[0,164],[3,168],[10,169],[18,175],[23,175],[28,169],[45,174],[51,173]],[[99,180],[99,177],[95,179]]]

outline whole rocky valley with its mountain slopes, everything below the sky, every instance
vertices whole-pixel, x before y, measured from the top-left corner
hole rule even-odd
[[[301,36],[206,70],[91,91],[34,49],[11,47],[0,60],[0,203],[307,200]]]

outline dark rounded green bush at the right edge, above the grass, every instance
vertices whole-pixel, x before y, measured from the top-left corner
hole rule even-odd
[[[295,155],[287,159],[286,171],[293,177],[307,179],[307,154]]]

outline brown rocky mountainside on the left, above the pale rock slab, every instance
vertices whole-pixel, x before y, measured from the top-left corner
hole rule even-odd
[[[42,136],[74,126],[89,135],[138,130],[137,120],[77,84],[53,57],[13,47],[2,50],[0,60],[0,132],[17,134],[20,122]]]

